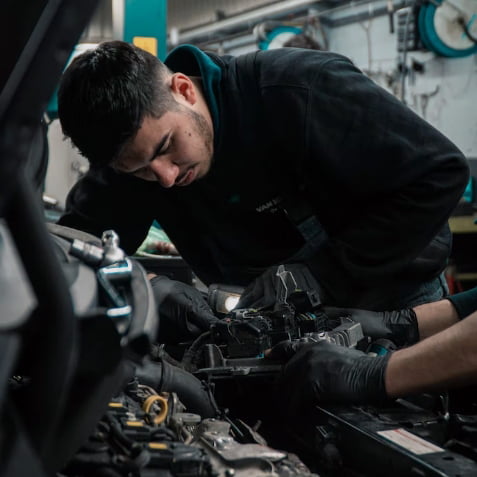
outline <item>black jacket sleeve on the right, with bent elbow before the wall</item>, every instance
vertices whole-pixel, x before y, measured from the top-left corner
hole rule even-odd
[[[445,226],[465,157],[346,59],[317,72],[308,106],[305,177],[326,200],[334,253],[354,279],[400,272]]]

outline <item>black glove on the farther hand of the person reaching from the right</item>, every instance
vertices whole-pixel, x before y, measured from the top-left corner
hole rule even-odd
[[[419,327],[412,308],[400,311],[367,311],[354,308],[323,308],[329,320],[349,317],[361,323],[363,334],[373,339],[386,338],[397,346],[407,346],[419,341]],[[335,326],[339,324],[336,322]],[[334,328],[332,323],[329,323]]]

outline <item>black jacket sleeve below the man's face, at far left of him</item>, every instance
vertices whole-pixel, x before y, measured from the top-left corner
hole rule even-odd
[[[68,194],[58,223],[101,237],[113,229],[120,246],[133,254],[146,238],[153,217],[150,184],[109,168],[90,171]]]

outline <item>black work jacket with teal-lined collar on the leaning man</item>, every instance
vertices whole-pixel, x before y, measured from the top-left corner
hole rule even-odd
[[[336,305],[402,306],[444,269],[466,160],[350,60],[183,46],[166,64],[203,79],[214,122],[208,175],[166,189],[90,171],[62,224],[113,228],[132,253],[156,219],[206,284],[246,285],[273,264],[303,262]]]

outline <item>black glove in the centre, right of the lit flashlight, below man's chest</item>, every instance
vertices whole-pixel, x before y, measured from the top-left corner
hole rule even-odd
[[[291,272],[296,282],[296,290],[316,290],[319,293],[319,285],[306,265],[302,263],[289,263],[283,265],[285,271]],[[257,277],[240,297],[236,308],[266,308],[277,302],[277,293],[282,288],[282,281],[277,275],[279,265],[267,269]],[[291,289],[292,283],[287,280],[288,294],[296,291]]]

